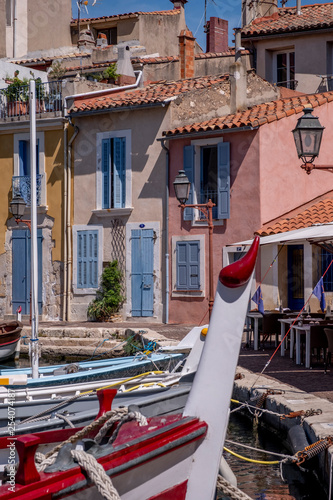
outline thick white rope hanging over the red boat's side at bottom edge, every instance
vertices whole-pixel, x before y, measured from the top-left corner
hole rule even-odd
[[[111,479],[97,460],[85,451],[72,450],[74,460],[84,469],[105,500],[121,500]]]

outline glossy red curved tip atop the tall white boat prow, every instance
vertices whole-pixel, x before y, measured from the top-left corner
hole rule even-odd
[[[242,259],[226,266],[220,272],[220,282],[228,288],[245,285],[251,277],[259,249],[259,236],[254,238],[250,250]]]

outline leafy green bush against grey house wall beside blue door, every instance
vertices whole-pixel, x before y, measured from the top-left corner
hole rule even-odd
[[[109,262],[105,267],[96,298],[88,306],[88,318],[92,321],[107,321],[117,313],[124,303],[122,294],[123,273],[119,269],[118,261]]]

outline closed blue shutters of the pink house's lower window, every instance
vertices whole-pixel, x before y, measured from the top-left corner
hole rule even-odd
[[[200,242],[178,241],[177,254],[177,290],[200,289]]]

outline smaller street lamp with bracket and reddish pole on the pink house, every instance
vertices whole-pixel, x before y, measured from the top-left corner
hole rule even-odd
[[[214,287],[213,287],[213,207],[215,207],[215,203],[212,202],[211,199],[208,200],[207,203],[195,203],[188,204],[186,203],[189,194],[191,183],[188,180],[185,171],[179,170],[179,174],[175,178],[173,182],[173,187],[175,189],[176,198],[180,203],[180,207],[182,212],[184,208],[196,208],[198,209],[205,217],[208,224],[208,255],[209,255],[209,298],[208,298],[208,310],[209,310],[209,318],[212,313],[213,304],[214,304]]]

